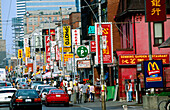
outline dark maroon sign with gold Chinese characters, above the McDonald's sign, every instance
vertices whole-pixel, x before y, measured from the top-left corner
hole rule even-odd
[[[166,21],[166,0],[145,0],[146,22]]]

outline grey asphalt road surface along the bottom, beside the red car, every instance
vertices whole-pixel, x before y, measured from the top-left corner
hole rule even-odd
[[[136,104],[136,102],[119,102],[119,101],[107,101],[106,109],[107,110],[123,110],[122,105],[127,105],[128,110],[143,110],[142,105]],[[0,110],[9,110],[8,105],[0,105]],[[70,104],[69,107],[64,107],[63,104],[51,105],[46,107],[43,105],[42,110],[102,110],[101,102],[98,100],[96,102],[88,102],[82,104]]]

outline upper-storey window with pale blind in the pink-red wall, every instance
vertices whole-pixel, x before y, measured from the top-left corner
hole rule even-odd
[[[154,46],[159,46],[164,42],[164,24],[154,23]]]

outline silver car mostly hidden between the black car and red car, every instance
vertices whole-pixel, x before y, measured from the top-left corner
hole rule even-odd
[[[56,87],[44,87],[44,88],[42,88],[42,90],[40,91],[40,94],[39,94],[42,102],[45,101],[45,96],[47,95],[47,93],[49,93],[49,91],[51,89],[56,89]]]

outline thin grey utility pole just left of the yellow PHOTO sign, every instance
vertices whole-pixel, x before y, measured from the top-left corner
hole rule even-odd
[[[63,17],[62,17],[62,10],[60,7],[60,20],[61,20],[61,38],[62,38],[62,59],[63,59],[63,79],[65,79],[65,69],[64,69],[64,41],[63,41]]]

